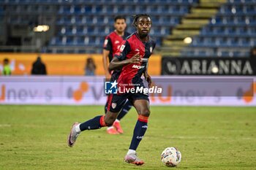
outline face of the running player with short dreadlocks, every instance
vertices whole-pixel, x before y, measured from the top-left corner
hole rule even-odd
[[[151,28],[151,19],[149,17],[140,17],[137,20],[138,34],[142,36],[148,35]]]

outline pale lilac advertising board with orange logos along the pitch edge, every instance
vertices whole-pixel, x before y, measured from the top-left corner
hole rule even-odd
[[[256,106],[256,77],[162,76],[152,81],[148,90],[138,89],[148,93],[152,105]],[[0,104],[103,105],[107,91],[125,91],[110,89],[118,82],[108,84],[104,77],[0,77]]]

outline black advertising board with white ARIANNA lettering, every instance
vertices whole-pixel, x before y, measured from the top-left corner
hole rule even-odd
[[[163,75],[256,75],[256,58],[162,58]]]

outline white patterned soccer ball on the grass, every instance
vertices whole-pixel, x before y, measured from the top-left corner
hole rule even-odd
[[[162,163],[165,166],[174,167],[181,162],[181,152],[179,152],[175,147],[167,147],[161,154]]]

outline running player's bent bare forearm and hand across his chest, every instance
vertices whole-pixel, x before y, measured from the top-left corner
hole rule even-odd
[[[118,68],[121,68],[122,66],[125,66],[129,63],[140,63],[141,62],[141,58],[140,58],[140,54],[137,53],[135,55],[132,56],[132,58],[129,58],[127,60],[124,60],[124,61],[119,61],[118,58],[113,58],[113,60],[110,62],[110,65],[108,67],[108,69],[111,71],[111,70],[114,70],[114,69],[118,69]]]

